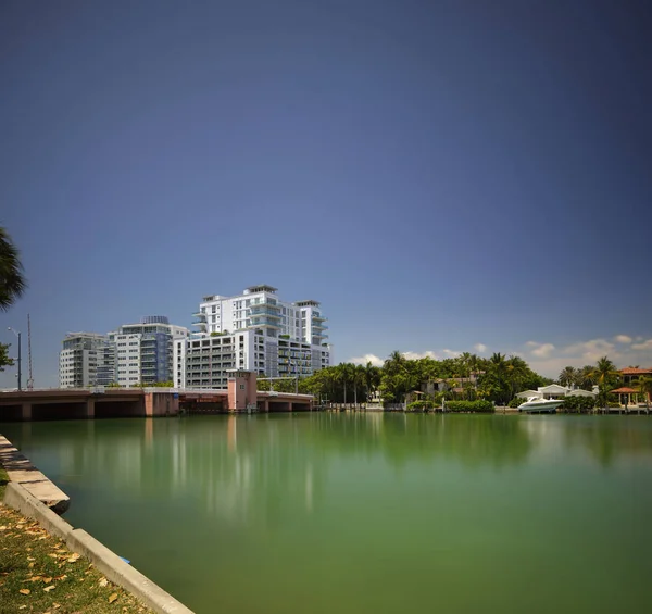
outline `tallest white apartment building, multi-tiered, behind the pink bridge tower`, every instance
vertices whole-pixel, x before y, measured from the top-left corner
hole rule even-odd
[[[333,348],[317,301],[283,301],[272,286],[236,297],[204,297],[195,313],[199,330],[174,341],[174,385],[226,388],[227,371],[268,377],[306,377],[330,366]]]

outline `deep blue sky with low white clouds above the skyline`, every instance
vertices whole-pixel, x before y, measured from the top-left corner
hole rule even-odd
[[[29,291],[0,340],[30,313],[53,386],[66,331],[266,283],[322,301],[338,361],[652,365],[651,29],[600,0],[5,0]]]

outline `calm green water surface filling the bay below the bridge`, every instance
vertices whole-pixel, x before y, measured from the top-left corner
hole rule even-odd
[[[201,613],[652,611],[652,419],[2,424],[66,518]]]

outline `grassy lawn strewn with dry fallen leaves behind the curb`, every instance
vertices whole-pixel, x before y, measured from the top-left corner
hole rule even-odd
[[[7,474],[0,469],[0,484]],[[0,486],[0,499],[4,486]],[[0,503],[0,614],[151,614],[38,523]]]

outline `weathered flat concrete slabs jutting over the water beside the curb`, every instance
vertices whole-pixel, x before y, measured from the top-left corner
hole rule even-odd
[[[14,444],[0,435],[0,465],[9,474],[10,481],[22,484],[39,501],[58,514],[63,514],[71,498],[52,480],[48,479],[26,459]]]

